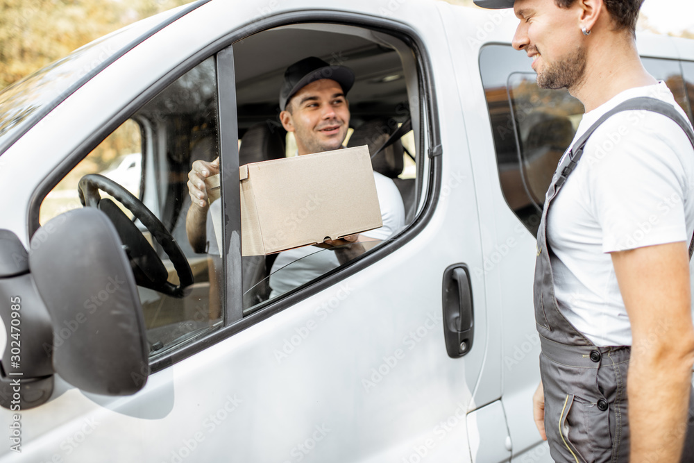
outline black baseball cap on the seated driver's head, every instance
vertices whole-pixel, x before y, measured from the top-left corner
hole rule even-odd
[[[354,85],[354,72],[345,66],[331,66],[327,62],[310,56],[287,67],[285,81],[280,90],[280,110],[284,111],[287,101],[306,85],[329,78],[340,84],[344,94]]]

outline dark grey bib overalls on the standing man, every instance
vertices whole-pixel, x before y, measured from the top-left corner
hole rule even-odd
[[[595,128],[616,112],[634,109],[659,112],[675,120],[694,146],[694,133],[672,106],[652,98],[625,101],[601,117],[564,155],[545,196],[537,233],[534,305],[542,347],[540,371],[545,391],[545,432],[550,455],[557,462],[629,461],[627,367],[630,347],[597,347],[561,314],[550,267],[552,251],[545,233],[548,209],[579,162]],[[694,239],[690,257],[693,246]],[[694,461],[693,421],[694,394],[690,400],[682,461]]]

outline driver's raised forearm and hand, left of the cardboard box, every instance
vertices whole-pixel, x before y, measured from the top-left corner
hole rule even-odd
[[[207,242],[205,224],[210,208],[206,179],[219,174],[219,158],[212,162],[198,160],[193,162],[192,167],[188,173],[188,194],[191,203],[185,217],[185,232],[193,251],[204,253]]]

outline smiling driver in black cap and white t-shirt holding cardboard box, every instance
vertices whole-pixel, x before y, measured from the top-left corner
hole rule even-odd
[[[343,148],[349,127],[350,112],[346,98],[355,81],[354,73],[344,66],[309,57],[289,66],[280,89],[280,121],[287,132],[293,132],[298,155]],[[197,160],[188,174],[192,203],[186,217],[188,239],[202,252],[205,245],[205,221],[210,208],[207,178],[219,174],[219,158],[212,162]],[[278,296],[347,262],[364,252],[362,243],[389,238],[405,225],[402,196],[393,180],[373,172],[383,226],[336,241],[328,246],[346,245],[335,252],[320,252],[304,246],[280,253],[270,277],[270,297]],[[310,256],[310,257],[308,257]],[[293,263],[293,264],[292,264]],[[278,269],[292,264],[284,271]]]

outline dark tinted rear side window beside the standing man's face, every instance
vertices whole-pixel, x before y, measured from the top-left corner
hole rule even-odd
[[[524,53],[493,45],[480,53],[502,192],[537,233],[545,192],[581,121],[583,105],[566,90],[543,90]]]

